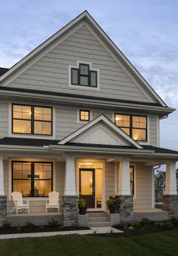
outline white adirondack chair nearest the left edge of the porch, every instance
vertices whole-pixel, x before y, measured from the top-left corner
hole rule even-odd
[[[26,209],[29,212],[29,201],[26,201],[26,204],[23,203],[22,193],[20,192],[13,192],[11,193],[12,199],[14,201],[14,209],[16,210],[16,214],[18,214],[18,210]]]

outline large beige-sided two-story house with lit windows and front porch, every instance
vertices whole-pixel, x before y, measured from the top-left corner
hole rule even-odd
[[[175,109],[87,11],[1,75],[1,223],[28,216],[11,213],[13,191],[29,200],[36,221],[52,216],[45,200],[57,190],[56,217],[66,226],[80,221],[78,195],[99,220],[110,195],[121,222],[175,216],[178,152],[159,142],[160,121]],[[154,166],[161,164],[164,211],[155,209]]]

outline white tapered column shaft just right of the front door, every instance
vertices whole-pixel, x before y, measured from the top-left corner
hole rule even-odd
[[[118,171],[118,195],[131,195],[130,193],[130,162],[128,158],[123,158],[119,162]]]

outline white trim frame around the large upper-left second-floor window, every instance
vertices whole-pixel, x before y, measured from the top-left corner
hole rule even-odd
[[[16,102],[13,102],[16,103]],[[56,108],[55,106],[51,106],[49,104],[45,103],[27,103],[29,106],[49,106],[53,108],[53,135],[48,136],[48,135],[35,135],[35,134],[13,134],[12,133],[12,104],[13,103],[8,103],[8,137],[20,137],[20,138],[29,138],[29,139],[43,139],[43,140],[55,140],[56,139]],[[18,102],[17,104],[26,104],[25,102]]]

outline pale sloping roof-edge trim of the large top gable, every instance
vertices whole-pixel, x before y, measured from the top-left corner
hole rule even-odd
[[[28,63],[29,60],[32,60],[32,57],[37,56],[38,53],[44,50],[44,48],[47,48],[48,45],[51,45],[52,42],[56,42],[57,39],[60,38],[61,35],[64,35],[66,32],[69,31],[69,29],[72,28],[72,26],[75,26],[81,20],[87,21],[92,28],[97,32],[98,35],[103,39],[103,42],[106,43],[106,45],[109,46],[109,48],[114,52],[115,56],[121,60],[122,63],[124,63],[125,66],[127,66],[127,69],[129,69],[130,73],[132,73],[137,80],[143,85],[143,88],[146,89],[146,91],[149,93],[149,95],[154,98],[160,106],[167,106],[163,100],[161,100],[161,97],[158,96],[158,94],[155,93],[155,91],[152,89],[152,87],[146,82],[145,79],[143,79],[143,76],[140,75],[140,73],[133,67],[133,65],[130,63],[129,60],[127,60],[127,57],[124,56],[124,54],[118,49],[118,47],[112,42],[111,39],[109,39],[109,36],[106,35],[105,32],[103,32],[103,29],[97,24],[97,22],[94,20],[93,17],[91,17],[90,14],[88,14],[87,11],[84,11],[78,17],[76,17],[74,20],[72,20],[70,23],[68,23],[66,26],[64,26],[62,29],[60,29],[58,32],[56,32],[54,35],[52,35],[49,39],[47,39],[45,42],[43,42],[41,45],[39,45],[35,50],[33,50],[31,53],[26,55],[22,60],[20,60],[18,63],[16,63],[14,66],[11,67],[7,72],[5,72],[0,77],[0,82],[4,82],[6,79],[8,79],[12,74],[17,72],[17,70],[20,70],[20,68],[25,64]]]

